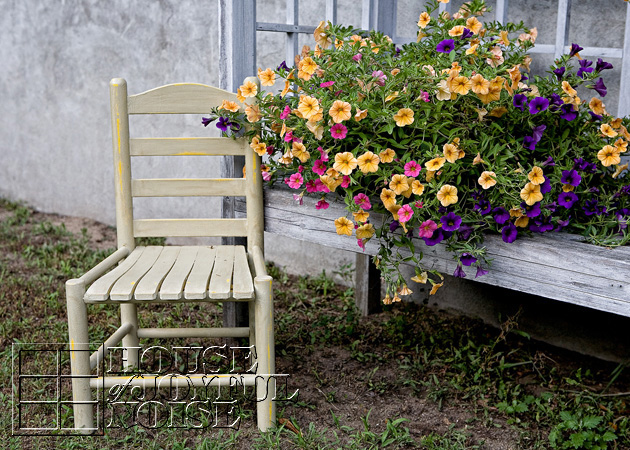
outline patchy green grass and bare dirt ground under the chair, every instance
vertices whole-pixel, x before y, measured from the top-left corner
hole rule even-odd
[[[0,437],[7,448],[630,448],[627,365],[532,342],[518,317],[495,330],[403,304],[362,318],[353,290],[326,273],[293,277],[273,265],[278,366],[300,389],[299,401],[278,405],[278,428],[258,432],[254,405],[243,401],[238,431],[133,427],[106,429],[105,438],[11,436],[10,344],[64,342],[65,280],[111,250],[95,249],[88,230],[73,234],[23,205],[0,200],[0,218],[0,402],[7,405]],[[348,267],[341,272],[351,275]],[[89,308],[96,342],[115,329],[117,311]],[[140,320],[219,325],[221,307],[154,305]],[[64,409],[63,423],[71,419]]]

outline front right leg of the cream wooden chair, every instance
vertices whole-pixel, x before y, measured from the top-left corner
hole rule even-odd
[[[270,276],[261,276],[256,277],[254,284],[256,291],[254,320],[258,357],[256,373],[259,375],[273,375],[276,370],[271,281]],[[275,395],[276,381],[273,377],[265,377],[257,381],[257,416],[258,428],[261,431],[267,431],[276,422]]]

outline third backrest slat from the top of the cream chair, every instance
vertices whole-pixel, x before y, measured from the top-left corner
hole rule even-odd
[[[245,197],[244,178],[153,178],[131,181],[133,197]]]

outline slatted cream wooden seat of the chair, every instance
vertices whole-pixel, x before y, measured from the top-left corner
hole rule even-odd
[[[243,246],[136,247],[86,291],[86,303],[251,300]]]

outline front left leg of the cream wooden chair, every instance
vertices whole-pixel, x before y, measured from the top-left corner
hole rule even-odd
[[[87,307],[83,301],[85,283],[80,280],[66,282],[68,305],[68,337],[70,339],[70,368],[72,378],[72,401],[74,427],[85,428],[86,434],[94,429],[94,409],[90,389],[90,346],[88,337]],[[89,403],[88,403],[89,402]],[[89,431],[88,431],[89,430]]]

